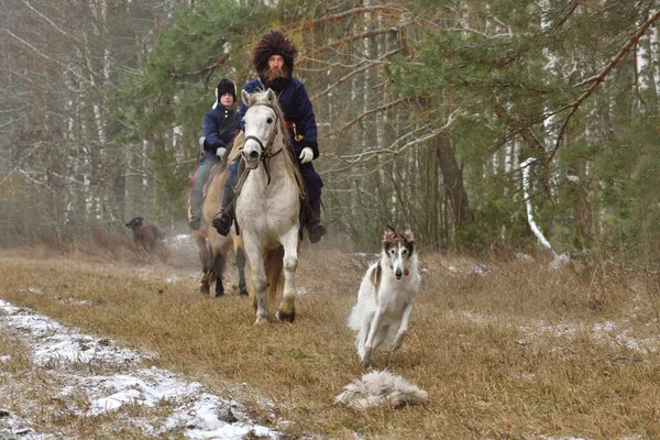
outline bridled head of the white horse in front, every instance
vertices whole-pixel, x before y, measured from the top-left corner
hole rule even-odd
[[[243,102],[248,107],[243,121],[245,122],[245,145],[243,161],[250,169],[257,167],[258,162],[271,154],[278,124],[282,123],[277,96],[271,89],[256,94],[242,92]]]

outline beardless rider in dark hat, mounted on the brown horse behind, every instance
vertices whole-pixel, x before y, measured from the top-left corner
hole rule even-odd
[[[197,231],[201,222],[204,202],[204,186],[209,178],[211,168],[227,153],[234,136],[240,130],[239,114],[233,109],[237,100],[237,86],[230,79],[222,78],[216,87],[216,103],[204,117],[204,134],[199,146],[204,156],[195,173],[190,199],[188,200],[188,226]]]

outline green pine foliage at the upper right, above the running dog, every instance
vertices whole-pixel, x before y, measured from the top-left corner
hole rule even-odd
[[[469,4],[472,14],[463,16],[463,25],[430,29],[417,43],[418,58],[413,63],[400,59],[392,77],[404,95],[415,96],[428,107],[446,108],[444,114],[461,110],[451,138],[464,163],[483,238],[498,242],[496,231],[501,230],[506,231],[504,242],[508,244],[520,245],[519,238],[525,235],[534,240],[525,233],[520,182],[506,177],[517,174],[517,163],[532,155],[543,161],[546,168],[546,173],[536,173],[537,221],[560,250],[583,250],[593,244],[590,240],[597,233],[605,234],[598,242],[604,240],[614,248],[626,246],[627,238],[649,246],[640,240],[641,232],[635,231],[639,222],[626,224],[629,207],[635,216],[642,212],[639,204],[649,207],[641,193],[650,189],[654,179],[647,173],[641,183],[638,172],[646,168],[642,163],[653,164],[658,157],[644,154],[645,147],[625,146],[628,135],[651,150],[657,144],[651,139],[657,136],[654,129],[640,122],[654,120],[654,112],[648,112],[657,106],[657,95],[646,91],[644,108],[638,109],[640,100],[630,88],[639,82],[634,54],[618,62],[574,114],[569,112],[653,13],[649,9],[652,2],[594,4],[572,12],[565,4],[548,4],[543,10],[543,2],[537,1]],[[657,32],[657,24],[654,29]],[[657,46],[657,38],[653,44]],[[562,131],[568,118],[570,123]],[[502,166],[498,152],[512,148],[518,162]],[[494,155],[498,163],[488,164]],[[616,183],[617,189],[608,180]],[[613,197],[612,190],[617,196]],[[652,193],[646,194],[653,198]],[[610,230],[590,220],[598,217],[593,211],[596,206],[605,210],[617,206],[614,217],[620,223]],[[591,211],[582,219],[590,220],[588,224],[580,224],[576,209]],[[652,223],[656,215],[647,209],[644,217],[650,218],[644,223]],[[644,229],[652,234],[648,227]],[[618,239],[612,235],[615,230]],[[469,232],[473,233],[472,229]]]

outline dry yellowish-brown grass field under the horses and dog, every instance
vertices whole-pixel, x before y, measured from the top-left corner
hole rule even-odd
[[[223,298],[198,293],[195,258],[6,250],[0,298],[155,353],[151,363],[220,396],[231,393],[256,422],[290,421],[290,438],[660,438],[658,274],[606,262],[552,271],[542,257],[476,262],[422,253],[408,337],[397,352],[376,351],[375,363],[427,391],[428,404],[354,410],[333,398],[365,372],[345,321],[373,258],[307,246],[296,322],[258,327],[235,287]],[[229,282],[237,283],[235,273]],[[0,354],[14,353],[0,372],[29,381],[33,400],[0,395],[0,407],[48,413],[34,428],[55,432],[70,422],[66,403],[40,400],[47,382],[38,372],[19,374],[30,362],[12,341],[0,333]],[[81,425],[72,436],[94,430]]]

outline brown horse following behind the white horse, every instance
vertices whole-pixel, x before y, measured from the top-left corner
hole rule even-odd
[[[229,167],[226,162],[220,162],[211,170],[209,182],[205,187],[206,197],[204,199],[201,223],[198,231],[193,231],[201,262],[201,284],[199,292],[207,295],[210,294],[213,283],[216,283],[216,296],[224,295],[222,272],[224,271],[229,250],[232,248],[235,255],[237,268],[239,270],[239,292],[240,295],[248,295],[243,241],[234,233],[222,237],[211,226],[213,216],[222,206],[224,182],[228,176]]]

